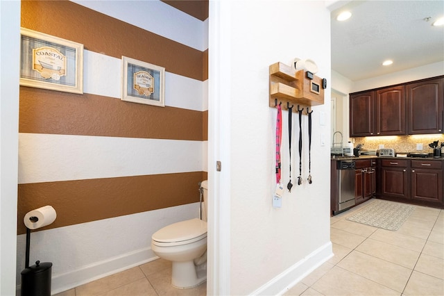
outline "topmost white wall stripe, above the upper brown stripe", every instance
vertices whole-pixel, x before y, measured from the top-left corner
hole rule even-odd
[[[200,51],[208,48],[204,38],[207,22],[202,22],[161,1],[71,1],[188,47]]]

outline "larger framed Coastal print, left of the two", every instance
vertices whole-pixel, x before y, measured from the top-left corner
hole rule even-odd
[[[83,44],[21,28],[20,85],[83,94]]]

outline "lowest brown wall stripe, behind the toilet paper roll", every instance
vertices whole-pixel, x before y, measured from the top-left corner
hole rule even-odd
[[[202,176],[187,172],[19,184],[17,233],[26,232],[28,211],[46,205],[53,206],[57,219],[38,230],[198,202]]]

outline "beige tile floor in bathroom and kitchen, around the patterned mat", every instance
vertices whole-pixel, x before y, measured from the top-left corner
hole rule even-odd
[[[346,220],[373,200],[331,218],[334,257],[284,295],[444,295],[444,211],[415,206],[398,231]],[[206,295],[206,283],[171,287],[158,259],[57,296]]]

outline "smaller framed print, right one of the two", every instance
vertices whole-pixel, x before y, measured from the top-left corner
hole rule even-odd
[[[165,106],[165,68],[122,56],[123,101]]]

